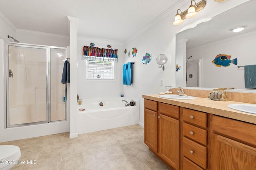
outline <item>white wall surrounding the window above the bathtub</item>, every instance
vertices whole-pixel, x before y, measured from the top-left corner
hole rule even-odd
[[[96,81],[85,82],[84,81],[84,57],[83,47],[85,45],[90,46],[90,43],[94,43],[94,47],[107,48],[107,45],[111,45],[112,49],[118,49],[118,62],[116,64],[116,81]],[[122,90],[122,68],[123,68],[123,54],[124,50],[121,43],[111,42],[101,39],[90,38],[78,38],[77,41],[77,94],[80,98],[105,98],[105,97],[119,97]]]

